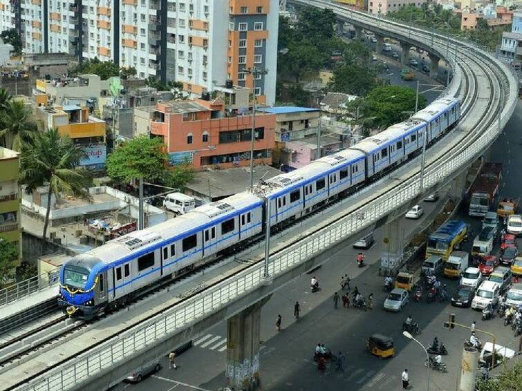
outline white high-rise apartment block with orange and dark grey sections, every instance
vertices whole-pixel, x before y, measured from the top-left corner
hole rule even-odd
[[[12,1],[21,0],[0,4]],[[273,104],[278,6],[277,0],[24,0],[20,31],[26,53],[114,61],[136,68],[138,77],[181,82],[194,95],[227,80],[254,88],[246,70],[255,67],[266,71],[256,74],[258,101]]]

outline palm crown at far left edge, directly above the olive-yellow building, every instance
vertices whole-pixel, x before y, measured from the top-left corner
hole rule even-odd
[[[36,131],[37,124],[24,102],[9,100],[0,128],[0,137],[3,137],[4,144],[19,152],[24,142],[31,142]]]

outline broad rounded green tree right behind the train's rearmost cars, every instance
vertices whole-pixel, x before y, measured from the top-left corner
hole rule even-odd
[[[402,86],[379,86],[364,99],[357,99],[352,108],[360,107],[360,122],[377,128],[387,128],[403,121],[415,110],[416,91]],[[426,98],[419,95],[418,108],[426,106]],[[369,120],[371,119],[371,120]]]

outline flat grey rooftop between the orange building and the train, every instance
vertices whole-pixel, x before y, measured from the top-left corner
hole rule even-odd
[[[271,166],[254,166],[254,184],[261,178],[267,180],[281,171]],[[232,194],[241,193],[248,188],[250,167],[234,167],[225,170],[201,171],[194,175],[194,180],[185,187],[193,191],[195,196],[209,196],[212,200],[221,200]]]

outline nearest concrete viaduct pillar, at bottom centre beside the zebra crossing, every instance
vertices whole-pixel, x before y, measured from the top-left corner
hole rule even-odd
[[[268,298],[227,319],[227,368],[225,381],[235,390],[259,387],[259,332],[261,307]]]

